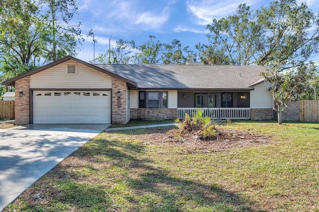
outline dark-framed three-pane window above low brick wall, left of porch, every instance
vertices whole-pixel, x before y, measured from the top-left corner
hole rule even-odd
[[[167,91],[140,91],[140,108],[167,108]]]

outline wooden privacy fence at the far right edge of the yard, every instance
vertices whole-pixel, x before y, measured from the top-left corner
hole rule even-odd
[[[319,100],[300,101],[300,121],[319,121]]]

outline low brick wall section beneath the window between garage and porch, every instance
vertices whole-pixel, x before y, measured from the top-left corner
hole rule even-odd
[[[176,119],[177,108],[131,108],[131,119],[163,120]]]

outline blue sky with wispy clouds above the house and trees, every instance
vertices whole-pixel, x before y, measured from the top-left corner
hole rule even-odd
[[[317,0],[302,0],[319,12]],[[299,2],[302,2],[299,0]],[[267,5],[269,0],[77,0],[79,15],[74,22],[82,23],[82,43],[78,58],[84,61],[93,59],[93,41],[87,37],[92,27],[97,39],[95,55],[106,53],[116,40],[134,40],[141,44],[149,35],[168,43],[180,40],[182,46],[193,49],[198,42],[207,43],[206,25],[213,18],[232,14],[240,3],[256,9]]]

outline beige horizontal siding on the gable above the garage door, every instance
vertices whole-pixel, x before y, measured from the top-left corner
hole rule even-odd
[[[30,88],[111,89],[111,76],[77,63],[77,74],[66,74],[68,61],[30,76]]]

